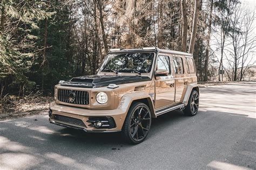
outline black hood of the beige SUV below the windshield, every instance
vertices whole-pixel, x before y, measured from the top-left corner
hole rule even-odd
[[[148,76],[138,75],[86,75],[74,77],[70,81],[60,83],[61,86],[97,88],[109,86],[109,84],[126,84],[142,81],[150,81]]]

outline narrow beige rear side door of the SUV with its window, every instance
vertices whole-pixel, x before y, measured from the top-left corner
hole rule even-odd
[[[173,55],[173,69],[175,74],[175,102],[183,101],[187,88],[187,77],[184,69],[184,57],[181,55]]]

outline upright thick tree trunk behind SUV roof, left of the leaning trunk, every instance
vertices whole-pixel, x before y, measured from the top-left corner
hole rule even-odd
[[[186,0],[180,0],[181,6],[181,51],[186,52],[187,47],[187,7]]]

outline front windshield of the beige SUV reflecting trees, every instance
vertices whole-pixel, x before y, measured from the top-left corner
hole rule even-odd
[[[154,53],[109,54],[100,72],[150,73]]]

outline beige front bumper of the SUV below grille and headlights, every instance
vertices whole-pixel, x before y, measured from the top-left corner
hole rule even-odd
[[[50,103],[51,115],[49,115],[49,122],[65,126],[68,128],[74,129],[82,129],[86,132],[117,132],[121,131],[123,127],[123,123],[125,121],[127,110],[125,109],[114,109],[114,110],[89,110],[84,108],[71,107],[67,105],[56,104],[55,102]],[[76,119],[77,121],[83,122],[81,123],[73,123],[71,121],[66,121],[66,119],[59,120],[56,119],[56,115],[68,117],[71,119]],[[95,126],[91,126],[89,118],[97,118],[97,117],[109,117],[114,121],[114,128],[96,128]],[[68,119],[67,119],[68,120]],[[88,122],[89,121],[89,122]]]

